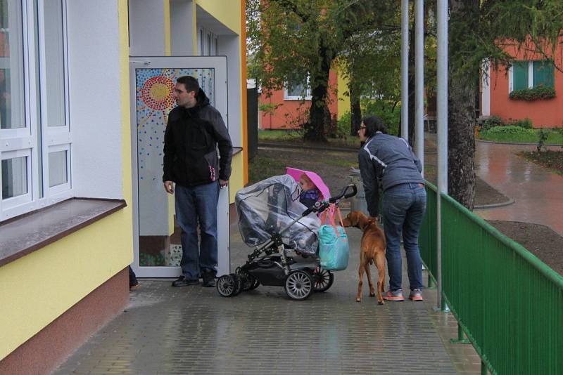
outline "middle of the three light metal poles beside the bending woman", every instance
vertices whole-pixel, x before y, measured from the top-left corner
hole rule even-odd
[[[424,0],[415,7],[415,150],[424,177]]]

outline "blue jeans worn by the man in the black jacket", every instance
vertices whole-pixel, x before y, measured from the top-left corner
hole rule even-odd
[[[176,221],[182,229],[182,274],[198,279],[202,272],[217,272],[217,202],[219,183],[175,187]],[[198,246],[198,228],[201,241]]]

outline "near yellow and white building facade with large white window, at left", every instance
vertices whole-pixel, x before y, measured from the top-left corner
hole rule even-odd
[[[46,374],[140,267],[134,56],[223,56],[227,206],[246,182],[244,2],[0,0],[0,22],[0,373]]]

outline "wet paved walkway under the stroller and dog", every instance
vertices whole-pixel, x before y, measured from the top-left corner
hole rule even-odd
[[[236,225],[231,233],[234,270],[250,248]],[[424,303],[377,305],[365,282],[362,303],[354,301],[361,232],[348,237],[348,269],[306,301],[289,300],[282,287],[222,298],[141,279],[127,310],[56,374],[478,374],[472,347],[449,343],[453,316],[433,312],[436,290],[424,291]]]

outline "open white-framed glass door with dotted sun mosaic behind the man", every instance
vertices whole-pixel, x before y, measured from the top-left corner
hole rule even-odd
[[[227,117],[227,58],[132,57],[131,121],[133,163],[134,263],[139,277],[177,277],[182,258],[180,229],[175,223],[174,197],[165,192],[163,176],[164,131],[175,107],[176,79],[198,79],[211,105]],[[220,191],[217,206],[219,259],[217,275],[229,273],[229,191]]]

